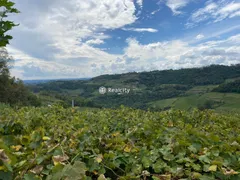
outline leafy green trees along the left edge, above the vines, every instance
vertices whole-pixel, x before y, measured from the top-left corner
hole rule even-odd
[[[9,13],[19,13],[13,6],[14,3],[9,0],[0,0],[0,102],[10,105],[39,106],[38,98],[29,92],[23,82],[10,76],[9,68],[13,58],[8,55],[5,47],[12,36],[6,33],[17,25],[5,18]]]

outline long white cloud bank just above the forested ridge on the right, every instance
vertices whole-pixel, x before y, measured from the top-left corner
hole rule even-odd
[[[142,45],[128,39],[125,61],[136,68],[177,69],[210,64],[240,63],[240,34],[225,40],[190,45],[181,40]]]

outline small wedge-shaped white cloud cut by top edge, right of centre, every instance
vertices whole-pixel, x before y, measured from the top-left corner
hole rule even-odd
[[[166,5],[172,10],[174,15],[181,14],[181,8],[185,7],[191,0],[166,0]]]

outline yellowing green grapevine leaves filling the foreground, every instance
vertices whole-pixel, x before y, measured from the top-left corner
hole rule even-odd
[[[211,111],[0,111],[0,177],[240,179],[240,116]]]

